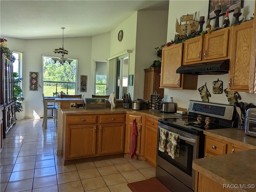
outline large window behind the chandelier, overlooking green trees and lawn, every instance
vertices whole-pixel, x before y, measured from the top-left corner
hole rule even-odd
[[[70,65],[54,63],[52,57],[43,56],[43,92],[45,96],[53,93],[76,95],[77,59]]]

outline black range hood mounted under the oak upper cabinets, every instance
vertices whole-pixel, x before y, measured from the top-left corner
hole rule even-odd
[[[182,65],[176,70],[176,73],[192,75],[218,75],[228,73],[228,70],[229,59],[226,59],[209,63]]]

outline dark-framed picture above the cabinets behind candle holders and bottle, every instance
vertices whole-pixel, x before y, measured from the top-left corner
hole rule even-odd
[[[221,12],[220,16],[225,15],[226,9],[228,9],[228,12],[234,12],[235,8],[244,7],[244,0],[236,0],[236,1],[230,1],[230,0],[209,0],[209,9],[208,9],[208,18],[214,19],[216,14],[214,13],[215,6],[219,5],[221,6]]]

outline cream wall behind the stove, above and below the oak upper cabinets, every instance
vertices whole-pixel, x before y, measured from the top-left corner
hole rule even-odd
[[[244,20],[250,19],[254,13],[254,3],[252,0],[244,1],[244,8],[242,8],[242,16],[240,19],[244,17]],[[208,0],[170,0],[169,1],[169,15],[168,15],[168,33],[167,33],[167,42],[174,39],[176,34],[175,32],[175,22],[176,18],[180,18],[182,15],[192,14],[197,12],[197,18],[200,16],[205,16],[205,21],[207,23],[208,16]],[[234,12],[229,14],[230,23],[234,23]],[[220,24],[222,24],[224,16],[220,17]],[[203,26],[203,30],[205,30],[206,23]],[[214,26],[215,19],[211,20],[210,24]],[[228,100],[226,98],[225,93],[222,94],[213,94],[212,93],[212,82],[217,79],[223,81],[223,89],[228,87],[228,74],[224,75],[198,75],[198,83],[197,88],[201,87],[206,83],[208,90],[210,91],[212,97],[209,97],[209,101],[213,103],[224,103],[228,104]],[[243,93],[238,92],[243,102],[246,103],[254,103],[256,104],[256,94],[251,93]],[[193,99],[197,101],[201,101],[200,94],[198,90],[175,90],[175,89],[164,89],[164,100],[169,101],[170,97],[174,97],[174,102],[177,103],[178,107],[187,108],[188,100]],[[238,100],[240,101],[240,100]]]

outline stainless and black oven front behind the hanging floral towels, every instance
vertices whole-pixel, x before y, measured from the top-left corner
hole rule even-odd
[[[158,124],[158,147],[160,128],[177,133],[180,138],[179,157],[172,159],[167,151],[161,152],[157,148],[156,164],[171,174],[174,178],[194,190],[195,171],[192,169],[192,161],[198,158],[199,136],[186,133],[174,127]]]

